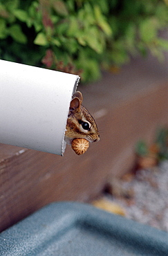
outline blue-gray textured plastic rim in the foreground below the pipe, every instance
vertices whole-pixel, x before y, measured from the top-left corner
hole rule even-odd
[[[168,255],[168,233],[85,203],[52,203],[1,232],[0,255]]]

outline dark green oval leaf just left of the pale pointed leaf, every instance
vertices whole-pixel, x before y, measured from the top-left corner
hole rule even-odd
[[[21,27],[18,24],[14,24],[8,28],[8,34],[16,41],[21,44],[26,44],[26,35],[21,31]]]

